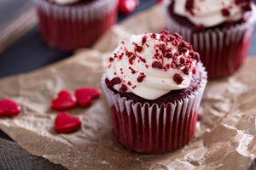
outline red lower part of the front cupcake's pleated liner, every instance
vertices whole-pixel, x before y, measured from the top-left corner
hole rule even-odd
[[[164,124],[163,112],[160,113],[158,123],[156,112],[152,113],[149,122],[147,108],[144,117],[140,110],[128,114],[126,110],[117,111],[114,105],[110,110],[117,140],[128,149],[137,152],[158,154],[177,150],[188,144],[195,133],[196,112],[187,112],[185,114],[190,116],[182,118],[177,116],[176,110],[173,120],[170,114],[166,115]],[[167,105],[168,110],[171,112],[171,105]],[[137,121],[134,114],[137,114]]]

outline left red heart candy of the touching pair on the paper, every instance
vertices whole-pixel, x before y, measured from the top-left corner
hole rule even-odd
[[[62,90],[56,99],[53,99],[50,103],[51,109],[54,111],[67,111],[72,110],[77,105],[76,97],[68,92]]]

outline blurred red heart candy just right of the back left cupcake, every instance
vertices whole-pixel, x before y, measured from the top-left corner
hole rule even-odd
[[[122,14],[130,14],[137,8],[138,4],[138,0],[119,0],[119,12]]]

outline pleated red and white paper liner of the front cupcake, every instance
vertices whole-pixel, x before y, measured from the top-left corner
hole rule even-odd
[[[113,128],[119,142],[130,150],[142,153],[164,153],[187,144],[195,133],[197,110],[207,84],[207,72],[202,64],[201,84],[189,96],[174,103],[149,105],[114,94],[102,77],[113,119]]]

